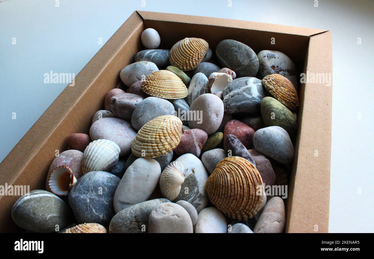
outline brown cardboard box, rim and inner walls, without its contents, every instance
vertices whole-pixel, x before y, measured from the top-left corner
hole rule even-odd
[[[224,39],[238,40],[256,53],[281,51],[298,72],[332,72],[331,32],[231,19],[169,13],[134,12],[68,85],[0,164],[0,185],[30,185],[45,189],[45,179],[55,150],[67,149],[68,136],[88,133],[93,114],[104,107],[104,98],[120,81],[119,72],[134,62],[143,49],[140,35],[156,29],[161,49],[170,49],[185,37],[200,37],[211,49]],[[271,44],[272,38],[275,45]],[[332,86],[302,83],[295,158],[286,202],[285,232],[327,232],[331,148]],[[316,152],[317,155],[316,155]],[[0,196],[0,231],[20,229],[10,216],[19,196]],[[318,229],[318,231],[316,231]]]

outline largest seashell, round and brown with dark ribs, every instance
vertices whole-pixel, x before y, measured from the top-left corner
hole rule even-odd
[[[261,209],[264,187],[260,173],[240,156],[222,159],[206,180],[205,189],[215,207],[233,219],[250,219]]]

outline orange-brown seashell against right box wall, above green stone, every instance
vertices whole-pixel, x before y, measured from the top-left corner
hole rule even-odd
[[[261,83],[284,106],[291,110],[297,110],[299,98],[290,80],[281,74],[269,74],[261,80]]]

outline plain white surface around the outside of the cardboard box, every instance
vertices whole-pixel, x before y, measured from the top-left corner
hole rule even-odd
[[[314,5],[314,0],[232,0],[232,7],[227,0],[60,0],[59,7],[54,0],[0,2],[0,161],[65,88],[43,83],[44,73],[78,74],[102,47],[98,38],[104,44],[134,10],[326,29],[333,43],[329,232],[374,232],[374,1]]]

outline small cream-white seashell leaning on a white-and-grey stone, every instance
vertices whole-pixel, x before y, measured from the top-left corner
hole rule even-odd
[[[183,164],[178,161],[171,162],[162,171],[160,176],[160,189],[164,198],[172,201],[178,197],[182,183],[184,182],[182,172]]]

